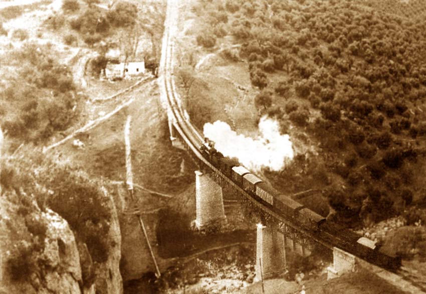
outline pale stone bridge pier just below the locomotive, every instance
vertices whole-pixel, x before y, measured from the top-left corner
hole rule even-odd
[[[195,225],[199,230],[226,222],[222,187],[200,171],[195,171],[195,206]]]

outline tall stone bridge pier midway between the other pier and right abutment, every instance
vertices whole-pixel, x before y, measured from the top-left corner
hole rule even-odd
[[[286,270],[284,235],[277,225],[257,225],[256,281],[274,278]]]

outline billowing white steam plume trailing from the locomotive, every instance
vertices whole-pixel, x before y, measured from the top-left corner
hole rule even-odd
[[[261,136],[246,137],[231,129],[223,121],[204,124],[204,136],[215,141],[215,148],[224,156],[237,158],[249,170],[259,172],[269,167],[280,171],[294,156],[292,142],[288,134],[281,135],[278,122],[267,116],[259,122]]]

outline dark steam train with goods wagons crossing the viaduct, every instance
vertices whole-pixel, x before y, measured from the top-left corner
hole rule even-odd
[[[392,271],[401,266],[400,257],[385,252],[376,242],[335,222],[327,221],[325,217],[306,206],[282,195],[245,167],[239,165],[237,161],[225,158],[215,149],[214,141],[204,138],[199,150],[204,159],[221,170],[256,201],[263,203],[278,214],[285,215],[287,220],[299,224],[305,231],[313,232],[318,239]]]

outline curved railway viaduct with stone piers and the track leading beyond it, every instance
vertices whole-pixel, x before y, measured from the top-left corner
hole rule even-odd
[[[286,271],[285,248],[293,248],[298,254],[308,255],[306,248],[311,235],[306,230],[299,229],[282,216],[257,203],[248,193],[215,166],[211,165],[198,150],[203,137],[190,123],[189,116],[181,105],[179,94],[176,91],[173,77],[174,42],[173,35],[177,30],[177,1],[168,1],[167,14],[164,24],[162,53],[159,68],[158,84],[163,109],[167,111],[170,140],[175,148],[186,150],[192,160],[199,167],[195,171],[196,183],[196,219],[198,229],[203,230],[211,226],[221,226],[226,222],[222,187],[231,186],[236,193],[243,196],[246,205],[250,206],[259,215],[257,224],[256,244],[256,280],[273,278]],[[302,236],[302,242],[296,242],[295,233]],[[289,238],[289,236],[293,236]],[[353,270],[356,258],[337,247],[324,244],[333,250],[334,265],[328,269],[328,277],[333,278],[344,272]]]

